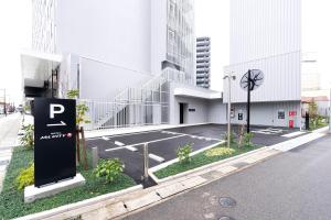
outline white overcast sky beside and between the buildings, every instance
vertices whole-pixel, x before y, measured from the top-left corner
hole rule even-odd
[[[212,41],[212,89],[222,90],[223,67],[228,64],[228,22],[231,0],[195,0],[196,36]],[[276,1],[276,0],[275,0]],[[20,50],[31,45],[31,0],[0,0],[0,89],[11,100],[21,99]],[[331,3],[302,0],[303,50],[318,53],[322,86],[330,87]],[[0,97],[2,96],[0,90]]]

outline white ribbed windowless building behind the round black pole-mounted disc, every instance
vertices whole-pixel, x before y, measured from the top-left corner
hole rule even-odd
[[[234,123],[246,123],[247,91],[239,81],[260,69],[264,84],[252,92],[250,122],[301,125],[301,0],[231,0],[229,66]],[[224,81],[227,101],[227,81]],[[238,117],[241,116],[241,117]],[[243,116],[243,117],[242,117]]]

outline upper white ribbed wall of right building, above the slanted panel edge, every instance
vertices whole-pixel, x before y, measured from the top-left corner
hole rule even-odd
[[[301,50],[301,0],[231,0],[229,64]]]

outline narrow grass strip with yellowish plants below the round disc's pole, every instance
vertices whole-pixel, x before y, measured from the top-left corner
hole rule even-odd
[[[226,147],[225,144],[221,144],[205,152],[201,152],[191,157],[191,161],[188,163],[177,162],[171,164],[160,170],[157,170],[154,175],[158,178],[166,178],[169,176],[173,176],[190,169],[197,168],[203,165],[207,165],[214,162],[218,162],[232,156],[236,156],[239,154],[247,153],[249,151],[254,151],[261,147],[261,145],[253,145],[253,146],[241,146],[238,147],[236,143],[232,144],[229,148]]]

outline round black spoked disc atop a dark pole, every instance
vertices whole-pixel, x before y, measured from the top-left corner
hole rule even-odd
[[[250,72],[250,77],[249,77]],[[248,90],[248,82],[250,81],[250,91],[257,89],[264,82],[264,73],[259,69],[250,69],[248,70],[241,80],[241,87],[244,90]]]

